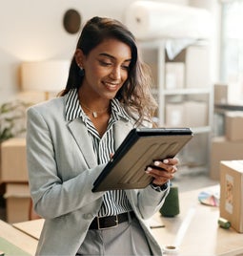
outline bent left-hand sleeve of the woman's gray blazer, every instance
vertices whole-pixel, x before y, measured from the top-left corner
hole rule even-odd
[[[66,146],[67,150],[71,147]],[[91,188],[104,165],[87,168],[71,179],[63,179],[55,160],[50,125],[35,108],[30,108],[27,113],[27,162],[30,195],[35,211],[43,218],[59,217],[77,209],[82,210],[88,204],[101,203],[104,193],[92,193]]]

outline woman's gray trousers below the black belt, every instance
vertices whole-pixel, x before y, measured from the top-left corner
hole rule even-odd
[[[89,230],[76,255],[152,255],[140,224],[133,218],[117,227]]]

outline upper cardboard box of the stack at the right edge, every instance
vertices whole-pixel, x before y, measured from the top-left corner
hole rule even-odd
[[[243,140],[243,111],[229,111],[225,114],[225,136],[230,140]]]

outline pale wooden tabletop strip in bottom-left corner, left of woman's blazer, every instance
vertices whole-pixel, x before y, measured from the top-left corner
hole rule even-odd
[[[0,220],[0,237],[34,255],[38,241]]]

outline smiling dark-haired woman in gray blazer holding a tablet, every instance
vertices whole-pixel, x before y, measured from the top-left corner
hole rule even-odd
[[[91,192],[132,128],[152,127],[150,81],[132,33],[116,20],[93,17],[81,32],[66,89],[30,107],[30,193],[45,218],[37,255],[162,254],[145,220],[164,202],[176,159],[156,160],[145,189]]]

